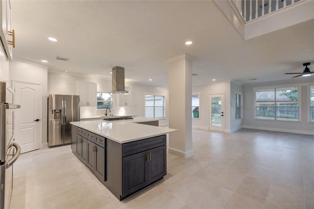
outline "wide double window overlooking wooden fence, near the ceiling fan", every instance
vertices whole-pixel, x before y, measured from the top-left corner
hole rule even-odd
[[[255,117],[271,120],[299,120],[298,87],[256,90]]]

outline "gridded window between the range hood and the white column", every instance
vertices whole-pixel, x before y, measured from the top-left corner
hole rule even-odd
[[[145,95],[145,117],[164,117],[165,97]]]

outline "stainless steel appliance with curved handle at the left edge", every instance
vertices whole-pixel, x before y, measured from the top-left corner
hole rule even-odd
[[[21,147],[14,141],[14,124],[8,129],[9,116],[14,121],[14,110],[20,105],[6,103],[6,83],[0,82],[0,209],[10,207],[13,189],[13,163],[19,158]],[[12,91],[11,91],[12,93]]]

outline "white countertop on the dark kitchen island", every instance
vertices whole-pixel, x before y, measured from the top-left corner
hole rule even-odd
[[[105,120],[89,120],[70,122],[71,124],[103,136],[107,139],[114,140],[119,143],[127,143],[139,139],[147,139],[167,134],[177,129],[138,124],[136,122],[146,122],[160,120],[160,117],[134,117],[128,121],[109,122]]]

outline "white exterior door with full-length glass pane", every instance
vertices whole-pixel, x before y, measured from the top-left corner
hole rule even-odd
[[[224,131],[225,117],[224,94],[209,95],[209,129],[215,131]]]

